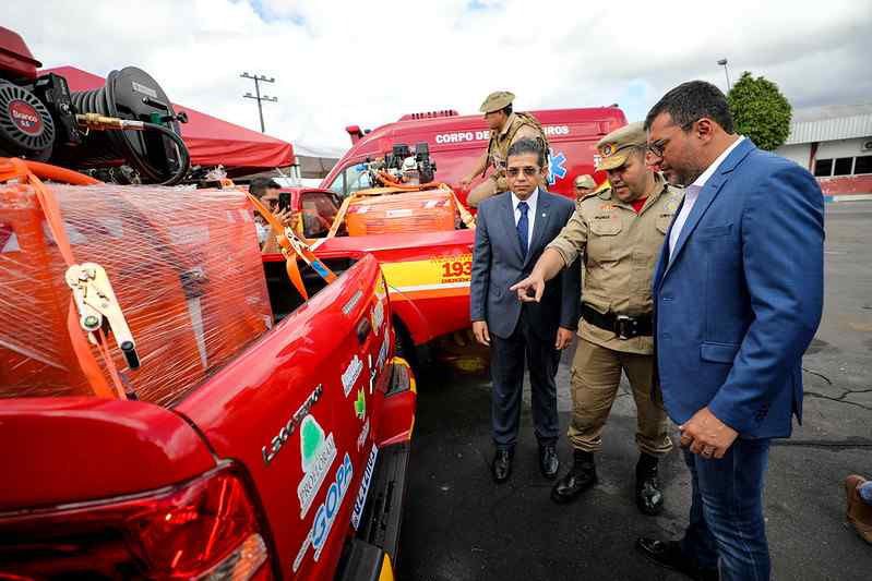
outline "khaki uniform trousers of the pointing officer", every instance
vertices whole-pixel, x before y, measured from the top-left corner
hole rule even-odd
[[[636,401],[636,445],[650,455],[672,448],[666,412],[652,401],[654,355],[623,353],[578,338],[572,362],[572,446],[588,452],[602,447],[602,429],[618,395],[621,371],[626,373]]]

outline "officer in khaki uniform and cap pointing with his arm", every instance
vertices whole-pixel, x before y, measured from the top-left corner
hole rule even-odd
[[[608,172],[610,187],[582,199],[530,276],[512,290],[525,303],[538,301],[548,280],[584,263],[569,428],[574,463],[552,488],[551,498],[569,503],[596,484],[594,459],[623,372],[636,403],[635,501],[643,513],[658,515],[664,495],[657,468],[672,443],[666,413],[653,394],[650,281],[681,191],[647,166],[642,123],[609,133],[597,149],[597,169]]]

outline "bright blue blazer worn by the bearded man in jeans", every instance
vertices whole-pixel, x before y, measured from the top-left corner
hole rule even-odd
[[[802,354],[823,307],[824,199],[792,161],[740,143],[654,274],[656,353],[676,423],[708,406],[742,437],[802,420]]]

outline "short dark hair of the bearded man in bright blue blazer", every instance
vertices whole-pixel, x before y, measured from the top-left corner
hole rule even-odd
[[[732,114],[727,97],[718,87],[705,81],[682,83],[657,101],[645,118],[645,131],[648,131],[654,119],[660,113],[669,113],[676,125],[684,131],[700,119],[707,117],[714,120],[727,133],[733,132]]]

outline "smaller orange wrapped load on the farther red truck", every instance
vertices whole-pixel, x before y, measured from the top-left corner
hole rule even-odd
[[[457,208],[450,191],[368,197],[353,202],[345,219],[348,235],[399,234],[454,230]]]

